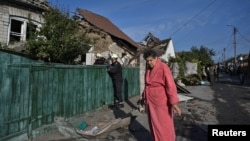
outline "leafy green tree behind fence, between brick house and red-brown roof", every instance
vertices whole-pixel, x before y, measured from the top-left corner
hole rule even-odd
[[[73,64],[89,50],[90,40],[81,32],[69,12],[51,8],[44,13],[44,23],[25,44],[26,53],[42,60]]]

